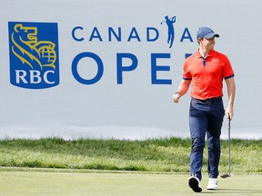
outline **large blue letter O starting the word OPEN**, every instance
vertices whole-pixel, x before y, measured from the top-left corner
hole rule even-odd
[[[77,71],[77,65],[78,65],[79,61],[83,58],[86,58],[86,57],[94,59],[96,61],[97,68],[98,68],[96,76],[93,79],[90,79],[90,80],[86,80],[86,79],[82,78]],[[86,52],[86,53],[77,54],[76,57],[74,58],[73,62],[72,62],[72,73],[73,73],[74,77],[76,78],[76,81],[78,81],[79,83],[83,83],[83,84],[97,83],[101,79],[101,77],[104,73],[103,62],[99,58],[98,55],[93,54],[93,53]]]

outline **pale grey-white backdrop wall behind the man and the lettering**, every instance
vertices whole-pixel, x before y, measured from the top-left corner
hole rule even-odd
[[[261,7],[259,0],[2,1],[0,137],[131,140],[188,137],[189,95],[187,93],[179,104],[172,103],[172,95],[181,81],[185,54],[196,51],[197,29],[210,26],[220,35],[216,50],[227,54],[236,73],[232,136],[261,138],[262,77],[261,65],[257,62],[262,52]],[[166,15],[176,15],[175,40],[171,48],[166,43],[167,26],[160,25]],[[57,24],[58,85],[26,89],[10,83],[8,22]],[[74,35],[84,41],[73,38],[76,26],[83,30],[77,29]],[[110,41],[109,28],[116,33],[120,29],[120,41],[114,36]],[[149,37],[146,37],[146,30]],[[156,32],[157,39],[148,41],[156,38]],[[86,52],[96,54],[103,62],[104,73],[94,84],[79,83],[72,73],[76,55]],[[117,64],[120,64],[117,54],[132,54],[137,59],[136,69],[123,72],[123,83],[117,83]],[[158,70],[155,79],[167,80],[168,84],[152,83],[151,54],[167,56],[156,60],[158,68],[162,66],[166,70]],[[123,66],[134,63],[130,58],[122,60]],[[96,61],[81,59],[77,72],[85,80],[94,78]],[[224,101],[227,106],[226,89]],[[222,135],[227,137],[227,123]]]

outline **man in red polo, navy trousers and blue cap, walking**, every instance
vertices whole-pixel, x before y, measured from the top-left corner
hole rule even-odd
[[[219,37],[208,27],[201,27],[196,38],[198,50],[186,58],[183,79],[173,95],[173,101],[187,92],[191,84],[192,97],[189,109],[189,127],[192,140],[190,174],[188,185],[196,192],[202,191],[200,181],[203,151],[207,134],[207,190],[217,190],[218,164],[220,160],[220,133],[225,115],[223,105],[223,79],[227,83],[227,118],[232,120],[236,85],[234,71],[225,54],[214,50],[215,38]]]

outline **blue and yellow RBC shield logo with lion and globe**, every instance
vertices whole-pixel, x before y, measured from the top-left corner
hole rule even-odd
[[[10,81],[28,89],[58,85],[56,23],[9,22]]]

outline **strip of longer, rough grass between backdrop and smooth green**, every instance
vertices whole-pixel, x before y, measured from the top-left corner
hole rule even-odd
[[[60,138],[0,141],[0,166],[109,171],[188,172],[191,141],[169,138],[146,141]],[[221,142],[220,171],[228,170],[227,141]],[[233,172],[262,172],[262,141],[232,140]],[[207,172],[207,151],[203,171]]]

